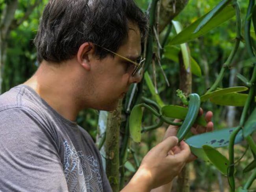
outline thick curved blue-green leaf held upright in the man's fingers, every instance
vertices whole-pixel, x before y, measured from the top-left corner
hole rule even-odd
[[[187,135],[195,123],[200,109],[200,96],[196,93],[189,94],[188,111],[182,126],[178,129],[177,137],[179,142]]]

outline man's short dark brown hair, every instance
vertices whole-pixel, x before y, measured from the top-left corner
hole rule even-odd
[[[138,25],[143,42],[147,18],[133,0],[50,0],[35,38],[37,59],[71,59],[83,42],[116,52],[128,37],[129,22]],[[102,59],[109,52],[98,46],[95,54]]]

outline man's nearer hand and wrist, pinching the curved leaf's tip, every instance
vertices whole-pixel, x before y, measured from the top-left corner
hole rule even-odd
[[[171,182],[180,173],[191,154],[184,141],[180,142],[179,150],[169,153],[177,144],[178,138],[171,136],[148,151],[136,174],[122,192],[147,192]]]

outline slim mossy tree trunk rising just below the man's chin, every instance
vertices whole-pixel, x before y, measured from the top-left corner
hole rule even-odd
[[[119,192],[119,134],[121,124],[122,100],[117,109],[108,113],[106,130],[106,174],[113,192]]]

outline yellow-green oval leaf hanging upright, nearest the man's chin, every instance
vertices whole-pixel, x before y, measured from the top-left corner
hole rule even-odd
[[[143,112],[140,105],[135,105],[130,114],[130,135],[135,142],[141,142],[142,114]]]

